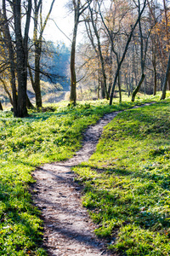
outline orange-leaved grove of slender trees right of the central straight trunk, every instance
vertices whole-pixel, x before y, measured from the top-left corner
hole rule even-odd
[[[88,38],[78,48],[82,84],[94,85],[98,97],[111,96],[111,90],[114,96],[117,86],[120,101],[122,90],[133,101],[139,89],[154,95],[162,90],[169,55],[166,1],[94,2],[84,20]],[[167,84],[169,89],[169,75]]]

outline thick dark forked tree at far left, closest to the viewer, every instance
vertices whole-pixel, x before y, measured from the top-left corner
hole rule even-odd
[[[9,5],[8,5],[9,3]],[[7,17],[7,7],[10,13],[10,17]],[[25,24],[22,19],[25,14]],[[3,32],[4,44],[8,49],[8,60],[10,63],[10,81],[13,91],[13,106],[14,116],[25,117],[27,116],[26,103],[28,98],[26,95],[26,83],[27,83],[27,61],[28,61],[28,33],[31,21],[31,0],[27,3],[21,2],[21,0],[7,1],[3,0],[3,23],[1,24],[1,31]],[[12,23],[14,21],[14,23]],[[12,26],[10,26],[12,24]],[[24,27],[22,34],[21,27]],[[12,29],[14,27],[14,34]],[[14,45],[15,43],[15,45]],[[16,55],[15,55],[16,49]],[[16,64],[16,65],[15,65]],[[16,68],[15,68],[16,67]],[[15,69],[17,73],[18,91],[15,84]]]

